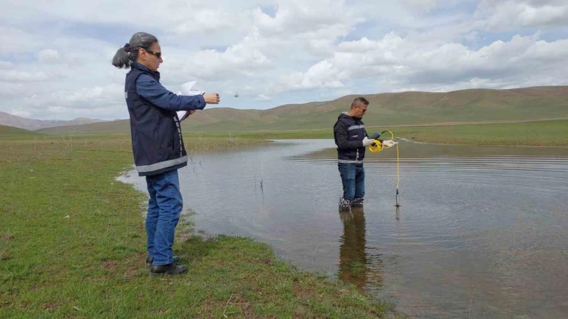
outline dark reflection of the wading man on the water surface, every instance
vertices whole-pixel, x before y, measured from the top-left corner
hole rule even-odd
[[[343,222],[343,236],[339,246],[339,277],[353,283],[357,289],[364,290],[367,273],[367,255],[365,253],[365,213],[363,209],[352,212],[340,211]]]

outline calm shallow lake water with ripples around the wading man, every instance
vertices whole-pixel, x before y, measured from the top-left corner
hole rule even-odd
[[[363,209],[340,213],[333,140],[192,156],[185,210],[416,318],[568,316],[568,148],[401,141],[367,151]],[[146,192],[135,171],[121,178]]]

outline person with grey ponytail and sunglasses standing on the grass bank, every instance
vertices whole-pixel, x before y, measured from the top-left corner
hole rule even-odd
[[[152,276],[182,274],[186,266],[177,265],[173,256],[174,229],[182,211],[178,169],[187,165],[181,127],[176,111],[190,114],[206,104],[218,104],[219,95],[176,95],[160,84],[158,67],[162,52],[158,40],[145,32],[135,33],[118,49],[112,65],[130,67],[126,75],[124,98],[130,114],[132,152],[139,176],[145,176],[150,195],[146,232],[147,266]]]

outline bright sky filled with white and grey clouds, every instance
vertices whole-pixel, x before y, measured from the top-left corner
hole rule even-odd
[[[0,111],[127,118],[111,59],[137,31],[165,87],[197,80],[219,107],[568,84],[566,0],[309,1],[2,1]]]

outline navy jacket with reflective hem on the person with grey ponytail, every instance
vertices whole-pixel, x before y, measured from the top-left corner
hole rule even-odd
[[[176,95],[160,84],[159,72],[135,62],[126,75],[124,97],[139,176],[186,166],[187,152],[176,111],[203,109],[203,96]]]

